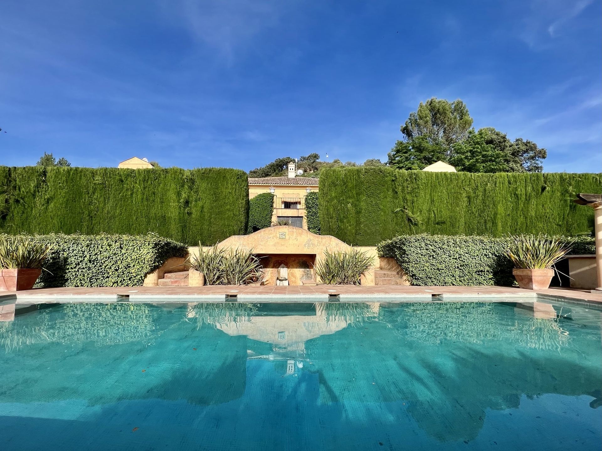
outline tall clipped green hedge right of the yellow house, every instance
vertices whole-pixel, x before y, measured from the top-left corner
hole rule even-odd
[[[602,175],[326,169],[320,174],[320,226],[359,246],[396,235],[576,235],[593,211],[572,201],[600,193]]]

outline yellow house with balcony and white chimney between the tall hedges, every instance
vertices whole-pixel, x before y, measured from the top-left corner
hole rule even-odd
[[[318,179],[297,176],[295,163],[288,164],[286,176],[249,179],[249,199],[261,193],[275,195],[272,222],[283,220],[303,229],[307,229],[305,196],[317,190]]]

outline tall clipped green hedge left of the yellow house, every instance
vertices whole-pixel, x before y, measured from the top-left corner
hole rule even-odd
[[[214,244],[247,229],[238,169],[0,166],[0,232],[146,234]]]

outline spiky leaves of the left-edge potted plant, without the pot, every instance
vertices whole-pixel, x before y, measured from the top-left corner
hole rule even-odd
[[[25,237],[0,236],[0,269],[43,269],[51,250]]]

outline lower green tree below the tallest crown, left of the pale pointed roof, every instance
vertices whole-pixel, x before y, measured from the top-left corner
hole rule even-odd
[[[387,164],[396,169],[421,170],[436,161],[447,161],[448,150],[426,136],[417,136],[411,141],[398,141],[388,157]]]

